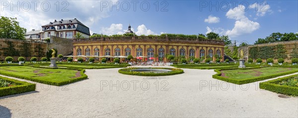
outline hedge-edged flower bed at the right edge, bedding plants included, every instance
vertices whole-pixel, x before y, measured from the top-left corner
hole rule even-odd
[[[260,83],[260,88],[286,95],[298,96],[298,76],[292,75]]]

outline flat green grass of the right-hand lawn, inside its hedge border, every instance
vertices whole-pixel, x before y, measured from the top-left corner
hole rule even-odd
[[[268,75],[280,74],[288,71],[295,71],[298,68],[288,67],[262,67],[255,69],[236,69],[236,70],[222,70],[223,77],[233,79],[247,79],[253,77],[263,77]]]

